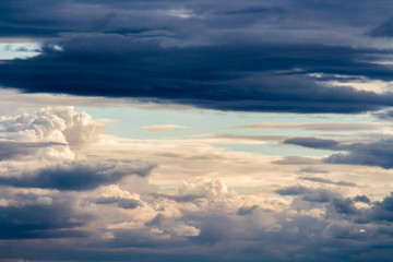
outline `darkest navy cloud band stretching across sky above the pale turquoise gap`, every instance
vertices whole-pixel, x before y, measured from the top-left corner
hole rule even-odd
[[[377,50],[318,45],[163,48],[118,36],[78,37],[63,48],[1,63],[0,83],[25,92],[138,97],[245,111],[359,112],[390,106],[393,98],[329,87],[306,75],[392,79],[391,69],[357,61]]]

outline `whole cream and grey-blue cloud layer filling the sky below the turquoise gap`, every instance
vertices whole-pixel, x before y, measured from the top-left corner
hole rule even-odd
[[[119,142],[92,132],[99,121],[72,108],[3,117],[0,123],[10,148],[70,153],[10,151],[0,160],[0,249],[10,240],[19,247],[2,251],[7,259],[386,261],[391,249],[392,195],[361,194],[361,180],[337,180],[327,164],[310,167],[322,165],[318,160],[276,165],[271,162],[281,157],[198,141]],[[70,145],[69,138],[84,133],[95,139]],[[287,143],[344,146],[318,139]],[[307,177],[297,177],[298,165]],[[227,181],[261,191],[239,194]]]

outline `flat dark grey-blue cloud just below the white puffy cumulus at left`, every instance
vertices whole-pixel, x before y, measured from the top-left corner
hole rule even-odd
[[[93,165],[74,162],[67,165],[41,168],[20,177],[0,177],[0,186],[16,188],[43,188],[58,190],[93,190],[115,183],[123,177],[147,176],[153,165],[139,162],[103,160]]]

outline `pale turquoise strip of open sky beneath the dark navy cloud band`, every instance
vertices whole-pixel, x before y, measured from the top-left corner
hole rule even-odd
[[[148,109],[143,108],[142,105],[141,107],[109,106],[105,108],[76,107],[75,109],[88,111],[97,119],[111,119],[105,131],[110,135],[155,143],[194,140],[234,151],[273,156],[324,156],[331,153],[325,150],[315,151],[281,144],[281,141],[287,138],[319,135],[340,138],[345,141],[353,139],[353,132],[361,135],[361,133],[382,129],[381,126],[376,124],[374,118],[367,115],[221,112],[192,108],[154,109],[152,107]],[[265,124],[254,128],[261,122]],[[252,128],[249,129],[249,126]],[[152,131],[146,132],[146,130]],[[389,128],[385,131],[388,132]]]

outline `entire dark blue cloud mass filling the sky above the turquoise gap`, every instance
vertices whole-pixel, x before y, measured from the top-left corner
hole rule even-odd
[[[389,1],[40,2],[0,5],[2,38],[44,43],[39,56],[0,64],[3,87],[219,110],[392,106],[390,92],[346,84],[392,81],[392,49],[369,37],[389,35]]]

